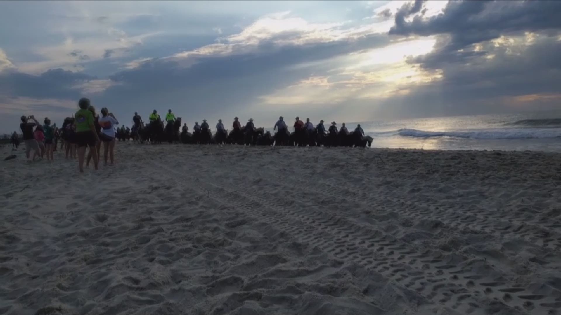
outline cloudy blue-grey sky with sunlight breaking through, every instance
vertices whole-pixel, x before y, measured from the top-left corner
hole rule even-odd
[[[0,133],[87,97],[270,127],[561,107],[561,1],[1,1]]]

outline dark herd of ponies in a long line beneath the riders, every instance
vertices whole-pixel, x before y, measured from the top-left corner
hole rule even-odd
[[[184,143],[184,144],[238,144],[257,146],[371,146],[373,138],[362,136],[358,132],[338,131],[337,133],[320,133],[315,128],[312,131],[301,129],[295,132],[283,130],[271,135],[263,128],[241,129],[230,132],[217,131],[213,133],[209,128],[188,132],[181,130],[181,118],[168,122],[165,126],[161,122],[141,124],[140,128],[117,129],[116,138],[119,141],[132,140],[140,143]]]

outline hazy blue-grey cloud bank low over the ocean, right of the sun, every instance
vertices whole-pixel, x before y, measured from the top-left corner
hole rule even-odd
[[[560,94],[561,59],[558,52],[561,51],[561,41],[544,36],[536,39],[533,45],[514,52],[512,49],[516,47],[488,44],[484,48],[486,55],[494,57],[484,58],[473,52],[469,64],[464,63],[466,59],[463,58],[449,58],[446,63],[439,64],[442,79],[404,87],[411,90],[410,94],[388,99],[385,114],[431,117],[512,112],[511,103],[515,96]],[[559,107],[554,100],[546,105]]]

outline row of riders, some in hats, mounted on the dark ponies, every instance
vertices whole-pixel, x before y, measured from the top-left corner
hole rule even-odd
[[[172,113],[172,110],[169,109],[168,113],[165,114],[165,122],[166,123],[174,123],[176,122],[176,117],[175,115]],[[150,114],[149,116],[149,120],[150,120],[150,124],[156,124],[156,123],[161,123],[162,119],[160,118],[160,115],[158,114],[157,110],[154,109],[154,111]],[[132,127],[132,131],[138,131],[140,128],[144,127],[144,122],[142,121],[142,118],[140,117],[140,115],[138,113],[135,112],[134,117],[132,117],[132,122],[134,123]],[[318,134],[320,135],[324,135],[325,132],[325,127],[324,127],[324,121],[321,120],[319,124],[317,124],[316,126],[314,126],[314,124],[312,124],[310,122],[310,118],[306,118],[306,123],[302,122],[300,120],[300,117],[296,117],[295,122],[294,122],[294,130],[295,132],[311,132],[311,131],[315,131],[318,132]],[[162,126],[163,127],[163,126]],[[183,124],[182,127],[182,132],[187,132],[188,131],[188,127],[187,124]],[[209,130],[209,124],[206,122],[206,119],[203,119],[203,123],[201,123],[199,125],[199,122],[195,122],[195,126],[193,127],[195,132],[200,132],[201,130]],[[218,123],[216,124],[216,129],[217,132],[224,132],[226,133],[226,129],[224,128],[224,124],[222,123],[222,119],[218,119]],[[237,131],[241,131],[241,123],[239,121],[238,117],[234,118],[234,122],[232,123],[232,129],[234,132]],[[253,123],[253,118],[250,118],[249,121],[247,121],[246,125],[245,125],[245,129],[246,130],[254,130],[255,129],[255,125]],[[288,132],[287,130],[287,124],[286,122],[284,122],[284,118],[281,116],[279,117],[279,120],[277,121],[277,123],[275,123],[274,127],[273,127],[273,131],[274,130],[278,130],[278,132]],[[333,133],[339,133],[339,132],[343,132],[343,133],[348,133],[347,127],[345,126],[345,123],[342,124],[341,126],[341,130],[338,131],[337,130],[337,123],[332,122],[331,126],[329,127],[328,133],[329,134],[333,134]],[[364,136],[364,131],[362,130],[362,128],[360,127],[360,124],[358,124],[358,126],[355,129],[355,134],[356,135],[361,135]]]

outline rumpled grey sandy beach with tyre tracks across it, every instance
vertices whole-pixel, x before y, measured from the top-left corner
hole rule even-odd
[[[561,154],[117,143],[81,175],[16,154],[0,314],[561,314]]]

